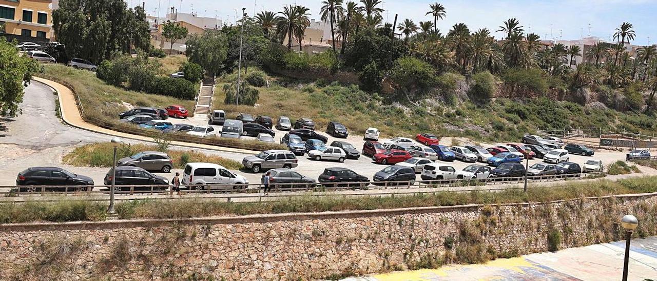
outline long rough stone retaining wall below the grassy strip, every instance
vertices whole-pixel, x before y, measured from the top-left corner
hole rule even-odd
[[[549,204],[0,225],[0,280],[315,280],[655,235],[657,194]]]

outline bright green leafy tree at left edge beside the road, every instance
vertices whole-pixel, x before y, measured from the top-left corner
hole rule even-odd
[[[32,58],[20,56],[14,43],[0,37],[0,112],[16,116],[18,104],[23,101],[24,87],[30,83],[39,65]]]

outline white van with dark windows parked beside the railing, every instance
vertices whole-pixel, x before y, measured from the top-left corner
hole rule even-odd
[[[193,162],[185,165],[181,184],[235,184],[221,189],[244,189],[248,186],[248,180],[241,175],[228,171],[222,165]],[[189,189],[197,188],[206,189],[205,186],[189,186]],[[212,189],[219,188],[213,186]]]

